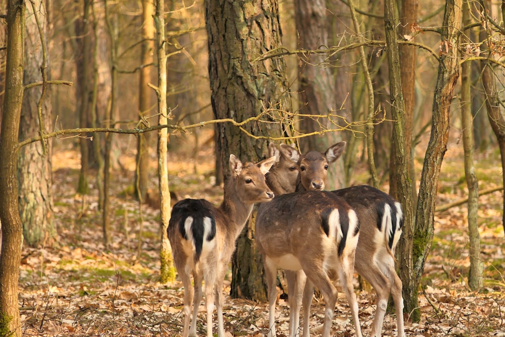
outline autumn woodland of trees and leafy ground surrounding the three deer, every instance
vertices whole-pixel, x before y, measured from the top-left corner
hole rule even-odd
[[[341,139],[331,188],[375,185],[406,214],[408,331],[503,333],[502,3],[1,8],[3,333],[179,331],[160,234],[171,198],[217,204],[230,153],[255,161],[270,141],[324,151]],[[264,333],[254,227],[239,247],[227,292],[246,300],[230,299],[228,330]],[[366,333],[374,295],[360,294]]]

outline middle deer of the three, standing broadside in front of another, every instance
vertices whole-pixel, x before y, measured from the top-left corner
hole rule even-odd
[[[299,175],[293,174],[297,167],[294,160],[307,156],[310,159],[313,154],[300,156],[289,146],[286,150],[280,152],[275,145],[269,145],[269,155],[274,156],[276,161],[267,174],[267,182],[276,197],[269,203],[260,204],[256,216],[255,240],[264,258],[268,287],[268,336],[276,335],[277,268],[282,268],[288,283],[290,336],[294,336],[298,329],[300,299],[306,279],[317,286],[324,297],[322,335],[330,335],[337,300],[333,280],[338,277],[349,303],[356,335],[361,337],[358,301],[352,284],[360,226],[356,212],[343,199],[328,191],[289,193],[296,189]],[[325,159],[325,162],[336,160],[341,150],[341,145],[329,149],[327,157],[330,159]],[[281,181],[283,183],[279,183]],[[306,311],[309,307],[305,307]],[[309,336],[308,320],[305,323],[304,336]]]

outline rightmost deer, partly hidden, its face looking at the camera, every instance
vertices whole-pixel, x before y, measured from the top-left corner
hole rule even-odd
[[[345,144],[343,145],[345,146]],[[342,149],[343,150],[343,149]],[[296,159],[291,163],[284,163],[283,167],[298,165],[299,177],[295,181],[292,173],[281,167],[272,167],[276,170],[276,176],[283,179],[290,177],[297,192],[304,190],[321,190],[325,187],[328,163],[334,162],[333,151],[320,153],[311,151],[310,160],[299,153],[293,154],[292,147],[281,144],[280,154],[283,158]],[[273,151],[272,151],[273,153]],[[284,173],[283,173],[284,172]],[[403,298],[401,296],[401,280],[395,270],[394,251],[402,232],[403,213],[401,205],[385,192],[367,185],[352,186],[332,191],[336,196],[343,198],[357,213],[360,222],[360,239],[356,249],[355,270],[374,288],[376,299],[376,312],[372,323],[372,337],[380,337],[382,325],[386,314],[389,294],[396,310],[396,327],[398,337],[405,337],[403,323]],[[304,335],[305,326],[308,326],[309,310],[314,287],[308,283],[304,292]],[[294,307],[298,310],[293,313],[299,317],[299,305]]]

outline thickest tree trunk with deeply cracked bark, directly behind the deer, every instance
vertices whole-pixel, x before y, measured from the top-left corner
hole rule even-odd
[[[264,109],[290,111],[286,65],[282,58],[251,62],[281,44],[277,1],[205,1],[209,45],[211,102],[216,118],[243,121]],[[248,27],[248,29],[244,29]],[[280,136],[289,130],[280,123],[251,123],[243,126],[254,135]],[[242,161],[257,162],[267,153],[267,142],[246,136],[228,124],[218,126],[217,146],[229,179],[230,154]],[[263,261],[254,241],[254,224],[249,221],[237,241],[232,261],[232,297],[266,300]]]

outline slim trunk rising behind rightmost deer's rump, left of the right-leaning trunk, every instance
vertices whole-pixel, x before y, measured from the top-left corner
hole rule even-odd
[[[412,239],[414,232],[414,207],[412,201],[412,180],[409,177],[409,162],[406,149],[405,134],[405,104],[400,75],[400,55],[397,43],[396,27],[399,22],[395,14],[393,0],[384,2],[384,24],[387,44],[387,60],[389,65],[389,90],[391,93],[391,116],[393,121],[393,149],[391,160],[396,168],[392,181],[396,185],[396,198],[401,203],[404,215],[403,234],[398,242],[399,277],[403,283],[402,293],[407,312],[412,312],[412,319],[419,321],[420,313],[417,306],[417,284],[413,277]],[[397,313],[399,314],[399,313]]]

